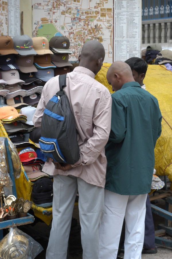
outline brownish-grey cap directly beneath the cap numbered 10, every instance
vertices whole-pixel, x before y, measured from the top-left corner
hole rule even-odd
[[[68,53],[51,54],[51,62],[56,65],[56,67],[72,66],[69,62]]]

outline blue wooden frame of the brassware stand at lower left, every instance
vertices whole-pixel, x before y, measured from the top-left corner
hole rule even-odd
[[[15,197],[17,197],[15,179],[14,179],[14,173],[13,173],[13,165],[12,165],[11,155],[10,155],[9,145],[8,145],[8,138],[5,137],[4,139],[5,139],[7,162],[8,162],[8,166],[9,166],[9,175],[13,182],[12,192],[13,192],[13,195]],[[13,226],[25,225],[25,224],[29,224],[29,223],[33,223],[33,222],[34,222],[34,216],[29,213],[27,214],[26,217],[16,218],[16,219],[11,219],[11,220],[6,220],[6,221],[0,222],[0,240],[3,238],[3,229],[13,227]]]

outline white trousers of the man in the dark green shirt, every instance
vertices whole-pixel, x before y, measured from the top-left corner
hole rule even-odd
[[[120,195],[105,190],[105,212],[99,229],[99,259],[116,259],[125,217],[124,259],[141,259],[147,194]]]

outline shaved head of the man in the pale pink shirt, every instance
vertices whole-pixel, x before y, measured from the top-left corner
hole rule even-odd
[[[105,58],[105,49],[97,40],[88,40],[81,49],[79,66],[90,69],[97,74]]]

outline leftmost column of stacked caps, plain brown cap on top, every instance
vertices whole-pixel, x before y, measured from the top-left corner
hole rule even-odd
[[[0,36],[0,84],[3,84],[3,90],[6,90],[7,93],[3,96],[3,98],[5,97],[5,100],[1,102],[1,106],[7,104],[20,108],[27,106],[27,104],[24,103],[23,96],[18,95],[18,90],[21,89],[21,85],[24,84],[24,81],[19,77],[19,72],[17,70],[19,67],[15,63],[15,54],[18,53],[14,49],[13,39],[10,36]],[[10,88],[10,86],[13,86],[14,88]],[[12,95],[11,92],[13,92]],[[15,98],[16,96],[17,98]]]

